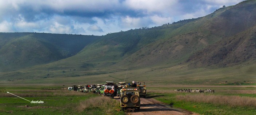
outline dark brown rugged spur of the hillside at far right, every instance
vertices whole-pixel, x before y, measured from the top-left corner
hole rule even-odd
[[[215,44],[196,52],[187,60],[190,67],[217,66],[226,67],[239,65],[243,62],[251,63],[256,59],[256,26],[225,38]]]

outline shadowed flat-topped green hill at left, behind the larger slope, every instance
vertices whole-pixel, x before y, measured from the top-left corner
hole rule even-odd
[[[0,33],[0,72],[47,64],[77,54],[96,36]]]

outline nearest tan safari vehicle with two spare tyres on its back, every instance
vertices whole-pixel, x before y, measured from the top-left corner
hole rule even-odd
[[[124,111],[127,108],[140,110],[140,95],[136,88],[123,88],[121,90],[120,106]]]

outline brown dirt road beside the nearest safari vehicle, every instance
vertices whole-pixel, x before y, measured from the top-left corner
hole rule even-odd
[[[119,99],[119,97],[115,97]],[[140,98],[140,111],[127,110],[127,115],[199,115],[177,107],[171,107],[153,98]]]

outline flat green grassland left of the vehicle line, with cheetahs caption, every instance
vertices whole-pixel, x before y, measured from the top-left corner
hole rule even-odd
[[[124,115],[115,99],[58,86],[0,86],[0,89],[5,89],[0,92],[0,115]],[[31,103],[6,91],[44,103]]]

